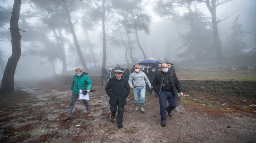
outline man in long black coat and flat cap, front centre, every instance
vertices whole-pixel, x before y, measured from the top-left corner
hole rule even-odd
[[[130,85],[128,79],[123,78],[123,71],[115,70],[115,77],[109,78],[109,82],[106,85],[106,92],[109,98],[109,105],[111,111],[111,119],[114,119],[116,115],[116,109],[118,107],[117,123],[118,128],[123,128],[123,115],[126,105],[126,97],[130,93]]]

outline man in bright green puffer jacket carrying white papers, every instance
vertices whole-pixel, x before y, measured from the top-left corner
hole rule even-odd
[[[71,85],[72,96],[71,96],[71,103],[68,106],[67,117],[64,117],[62,121],[71,120],[71,114],[74,108],[74,104],[76,99],[79,97],[79,92],[81,90],[87,90],[87,93],[90,92],[92,88],[92,81],[87,73],[83,72],[80,68],[76,69],[76,75],[73,77],[73,82]],[[90,106],[88,100],[82,99],[83,104],[87,109],[86,114],[90,114]]]

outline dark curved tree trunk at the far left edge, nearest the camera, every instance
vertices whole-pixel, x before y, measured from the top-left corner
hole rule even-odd
[[[12,8],[12,17],[10,18],[10,33],[12,37],[12,55],[7,61],[3,73],[2,87],[0,93],[14,91],[14,74],[17,63],[21,57],[21,34],[19,32],[19,13],[21,10],[21,0],[14,0]]]

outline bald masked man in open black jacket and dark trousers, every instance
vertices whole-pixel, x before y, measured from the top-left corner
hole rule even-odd
[[[168,69],[168,65],[163,63],[161,65],[162,71],[158,72],[154,76],[153,89],[159,96],[161,126],[166,126],[166,111],[169,116],[173,116],[171,112],[177,106],[177,94],[176,91],[183,96],[180,82],[176,77],[176,74],[172,73]],[[166,100],[169,102],[169,106],[166,107]]]

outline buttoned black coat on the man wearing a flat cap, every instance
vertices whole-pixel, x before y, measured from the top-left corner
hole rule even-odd
[[[109,105],[116,106],[117,101],[119,102],[119,106],[126,105],[126,97],[130,93],[128,79],[123,77],[120,80],[117,80],[116,77],[109,78],[105,90],[110,97]]]

